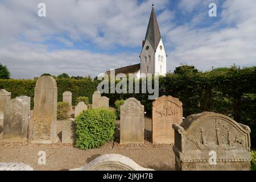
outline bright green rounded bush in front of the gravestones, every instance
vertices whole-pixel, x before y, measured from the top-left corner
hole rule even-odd
[[[97,148],[114,138],[115,113],[108,109],[88,109],[76,117],[76,144],[80,149]]]

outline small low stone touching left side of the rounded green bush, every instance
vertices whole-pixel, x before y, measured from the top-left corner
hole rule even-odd
[[[76,126],[74,119],[61,121],[62,123],[62,143],[74,143],[76,140]]]

